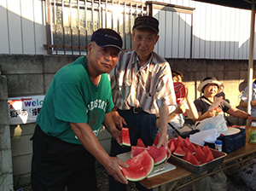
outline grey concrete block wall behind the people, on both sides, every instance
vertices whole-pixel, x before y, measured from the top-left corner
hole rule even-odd
[[[6,76],[8,89],[6,95],[8,97],[45,95],[55,72],[75,61],[78,57],[78,55],[0,55],[0,71]],[[183,81],[189,87],[189,95],[192,99],[200,96],[196,87],[201,80],[207,76],[215,76],[224,83],[224,93],[226,98],[230,100],[231,105],[238,105],[240,94],[238,86],[244,79],[247,80],[247,61],[189,59],[167,59],[167,61],[173,69],[183,72]],[[0,92],[1,90],[0,88]],[[0,96],[0,104],[7,104],[6,99],[3,102],[1,99]],[[2,105],[0,109],[2,109]],[[9,127],[7,122],[3,124],[2,113],[1,111],[0,136],[4,133],[4,137],[10,137],[7,151],[10,156],[8,161],[12,161],[9,164],[12,165],[10,167],[12,171],[7,174],[11,175],[13,173],[14,188],[20,188],[21,185],[30,182],[32,142],[29,139],[32,136],[35,124],[10,125]],[[6,113],[4,112],[5,117]],[[108,131],[102,129],[98,139],[103,148],[109,152],[110,135]],[[1,138],[0,143],[1,183],[1,178],[3,178],[2,154],[6,151],[2,146]],[[9,176],[10,182],[12,182],[11,177]],[[1,187],[0,190],[2,190]]]

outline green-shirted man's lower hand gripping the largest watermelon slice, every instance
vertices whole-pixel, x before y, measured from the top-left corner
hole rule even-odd
[[[116,157],[110,157],[108,163],[103,165],[108,171],[108,174],[111,175],[116,181],[127,184],[128,181],[120,170],[119,166],[129,167],[123,160]]]

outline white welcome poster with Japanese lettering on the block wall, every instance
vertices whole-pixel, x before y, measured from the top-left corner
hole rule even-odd
[[[36,122],[44,102],[44,96],[12,97],[8,99],[9,123],[29,124]]]

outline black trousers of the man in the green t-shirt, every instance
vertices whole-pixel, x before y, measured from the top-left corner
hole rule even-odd
[[[48,136],[37,125],[32,136],[32,190],[97,190],[95,158],[82,146]]]

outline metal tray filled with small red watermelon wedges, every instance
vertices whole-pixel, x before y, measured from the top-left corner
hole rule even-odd
[[[212,170],[221,165],[226,153],[219,152],[208,146],[201,146],[178,136],[168,142],[172,156],[169,161],[174,165],[180,165],[186,170],[199,174],[203,171]]]

